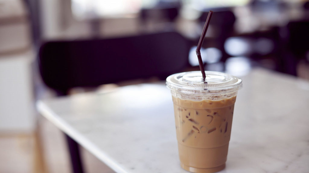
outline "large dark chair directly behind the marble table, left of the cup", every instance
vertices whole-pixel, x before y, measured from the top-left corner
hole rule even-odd
[[[102,40],[47,42],[40,48],[44,83],[67,95],[76,86],[166,78],[188,66],[189,45],[175,32]],[[83,172],[78,144],[66,136],[75,173]]]

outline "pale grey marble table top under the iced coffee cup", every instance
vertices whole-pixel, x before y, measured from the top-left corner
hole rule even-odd
[[[37,110],[118,173],[187,172],[163,83],[41,100]],[[243,77],[220,172],[309,172],[309,82],[262,69]]]

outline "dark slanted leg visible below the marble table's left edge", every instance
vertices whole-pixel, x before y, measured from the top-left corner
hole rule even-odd
[[[66,135],[66,140],[68,143],[68,147],[70,150],[71,163],[74,173],[83,173],[83,166],[80,159],[79,154],[79,145],[74,141],[74,139],[70,138],[70,136]]]

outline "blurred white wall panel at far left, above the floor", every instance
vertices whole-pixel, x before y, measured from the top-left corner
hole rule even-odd
[[[35,127],[31,52],[0,56],[0,131],[30,132]]]

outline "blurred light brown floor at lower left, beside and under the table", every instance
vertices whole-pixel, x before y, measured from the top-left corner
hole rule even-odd
[[[36,145],[35,135],[0,134],[1,173],[71,172],[63,133],[44,118],[40,120],[40,129],[42,153]],[[86,173],[114,172],[88,151],[82,149],[81,155]]]

